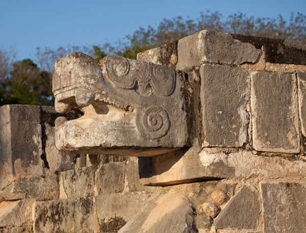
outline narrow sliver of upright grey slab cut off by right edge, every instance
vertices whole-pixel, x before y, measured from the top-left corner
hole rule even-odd
[[[298,100],[301,132],[306,136],[306,72],[299,72],[298,77]]]

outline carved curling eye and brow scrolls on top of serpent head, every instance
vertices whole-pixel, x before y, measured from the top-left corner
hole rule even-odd
[[[171,67],[140,62],[130,65],[135,61],[118,56],[108,56],[105,61],[110,81],[119,88],[135,89],[142,96],[152,92],[169,96],[175,89],[176,76]]]

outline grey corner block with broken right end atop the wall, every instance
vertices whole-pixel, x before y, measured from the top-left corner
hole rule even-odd
[[[230,34],[203,30],[179,40],[176,69],[188,69],[203,62],[235,65],[255,63],[260,55],[260,49],[235,40]]]

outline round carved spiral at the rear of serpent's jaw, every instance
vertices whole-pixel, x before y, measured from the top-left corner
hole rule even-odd
[[[168,113],[162,107],[152,106],[137,114],[136,125],[142,136],[157,139],[167,134],[170,120]]]

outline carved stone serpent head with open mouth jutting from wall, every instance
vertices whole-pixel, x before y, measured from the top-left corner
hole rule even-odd
[[[96,62],[74,52],[55,63],[57,148],[73,153],[155,156],[187,146],[182,78],[173,68],[120,56]]]

